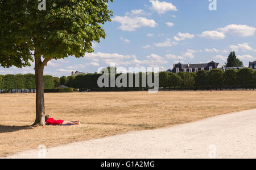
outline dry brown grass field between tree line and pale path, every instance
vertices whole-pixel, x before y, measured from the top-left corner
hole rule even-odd
[[[0,157],[256,108],[256,91],[46,93],[46,114],[81,126],[31,127],[35,94],[0,94]],[[217,122],[216,122],[217,123]]]

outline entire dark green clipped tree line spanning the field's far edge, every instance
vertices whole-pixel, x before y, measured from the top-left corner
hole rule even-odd
[[[121,73],[115,74],[115,78],[120,76]],[[89,73],[81,74],[78,76],[63,76],[52,77],[44,76],[44,88],[54,89],[60,85],[68,86],[69,88],[79,89],[84,91],[90,89],[92,91],[137,91],[147,90],[148,84],[142,82],[143,75],[146,73],[127,73],[127,87],[110,87],[110,74],[109,74],[109,87],[98,87],[97,80],[102,74]],[[135,85],[136,77],[139,77],[139,85]],[[129,87],[129,78],[133,78],[133,87]],[[154,82],[154,73],[152,76]],[[222,69],[212,69],[211,71],[199,71],[197,73],[179,72],[179,73],[159,73],[159,87],[162,89],[170,90],[203,90],[203,89],[254,89],[256,87],[256,71],[250,68],[228,69],[225,72]],[[35,90],[35,75],[34,74],[6,74],[0,75],[0,89],[6,92],[34,92]],[[51,90],[48,90],[51,92]]]

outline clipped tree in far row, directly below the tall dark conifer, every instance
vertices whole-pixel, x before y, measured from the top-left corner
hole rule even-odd
[[[228,69],[224,72],[223,81],[226,86],[236,87],[237,85],[237,70],[236,69]]]

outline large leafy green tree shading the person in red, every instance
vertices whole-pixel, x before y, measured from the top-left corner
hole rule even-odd
[[[43,72],[49,60],[84,57],[92,42],[105,38],[102,24],[111,21],[113,0],[0,1],[0,64],[24,67],[35,61],[36,119],[45,125]],[[43,60],[42,60],[43,59]]]

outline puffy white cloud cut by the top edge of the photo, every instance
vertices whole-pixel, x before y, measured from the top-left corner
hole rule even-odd
[[[177,11],[177,7],[172,5],[171,2],[160,2],[158,0],[150,0],[152,3],[151,9],[155,10],[158,14],[164,14],[168,11]]]

